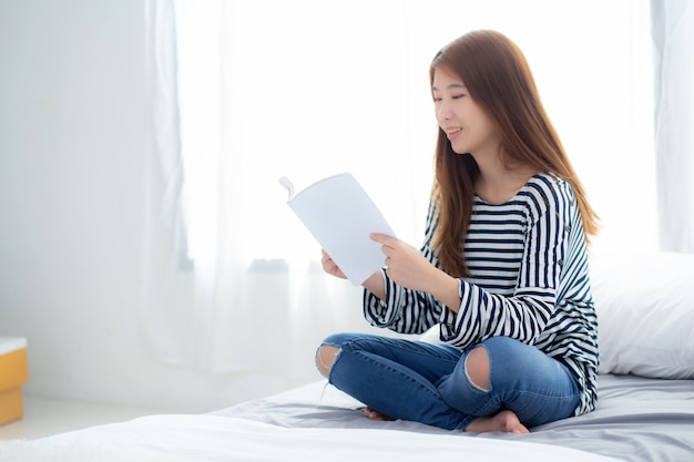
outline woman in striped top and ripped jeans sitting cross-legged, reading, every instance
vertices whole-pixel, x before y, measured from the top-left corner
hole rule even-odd
[[[385,235],[364,283],[375,326],[441,345],[328,337],[316,365],[371,419],[527,433],[596,401],[596,318],[586,236],[596,216],[518,47],[473,31],[430,66],[439,124],[420,250]],[[344,274],[325,254],[324,269]]]

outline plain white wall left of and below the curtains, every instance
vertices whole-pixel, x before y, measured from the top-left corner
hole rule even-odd
[[[0,336],[28,337],[27,394],[217,409],[288,384],[174,368],[137,337],[143,10],[0,0]]]

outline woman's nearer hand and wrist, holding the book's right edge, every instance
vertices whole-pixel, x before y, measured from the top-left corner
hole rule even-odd
[[[388,267],[386,274],[390,279],[402,287],[427,291],[438,269],[419,249],[385,234],[372,233],[370,237],[381,245]]]

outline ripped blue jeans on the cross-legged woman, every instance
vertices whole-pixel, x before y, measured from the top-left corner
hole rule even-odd
[[[364,333],[333,335],[323,345],[340,349],[329,382],[392,419],[465,430],[478,417],[510,409],[532,428],[571,417],[579,405],[575,378],[564,365],[507,337],[474,346],[489,356],[489,390],[466,372],[474,347],[461,351]]]

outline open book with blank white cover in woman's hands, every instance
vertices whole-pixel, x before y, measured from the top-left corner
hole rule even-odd
[[[354,285],[384,266],[386,256],[369,234],[395,233],[351,174],[329,176],[296,194],[286,177],[279,183],[289,193],[289,207]]]

